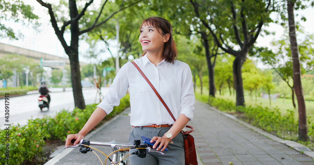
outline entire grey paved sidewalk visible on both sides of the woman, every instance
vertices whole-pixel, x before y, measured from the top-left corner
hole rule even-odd
[[[127,143],[130,126],[130,109],[123,112],[116,120],[91,132],[85,138],[91,141]],[[198,156],[204,165],[314,165],[312,158],[276,142],[252,129],[213,110],[205,103],[196,101],[192,122]],[[109,154],[109,147],[96,146]],[[95,150],[94,150],[95,151]],[[95,151],[103,160],[103,155]],[[62,157],[62,158],[61,158]],[[81,154],[78,148],[67,148],[54,160],[46,163],[57,165],[101,164],[94,153]],[[110,164],[107,161],[107,164]],[[202,163],[199,163],[201,165]]]

